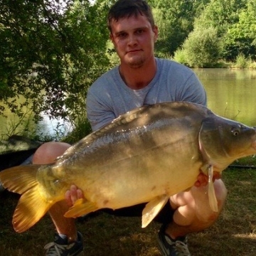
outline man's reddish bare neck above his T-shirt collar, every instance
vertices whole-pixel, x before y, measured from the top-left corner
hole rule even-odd
[[[139,90],[149,85],[149,82],[156,75],[156,61],[154,60],[140,68],[131,68],[121,63],[119,73],[128,87],[133,90]]]

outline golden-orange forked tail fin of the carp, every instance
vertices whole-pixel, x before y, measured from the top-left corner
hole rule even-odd
[[[36,179],[38,165],[15,166],[0,172],[0,181],[4,188],[21,194],[14,211],[14,230],[22,233],[40,220],[54,202],[46,201],[39,193]]]

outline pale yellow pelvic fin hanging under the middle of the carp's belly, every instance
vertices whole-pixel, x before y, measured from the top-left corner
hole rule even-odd
[[[151,220],[153,220],[159,211],[164,207],[168,201],[169,196],[157,196],[152,201],[146,204],[145,208],[142,211],[142,228],[146,228]]]

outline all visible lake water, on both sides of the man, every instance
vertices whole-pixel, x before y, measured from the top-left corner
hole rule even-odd
[[[195,69],[206,88],[208,107],[215,114],[256,126],[256,70]],[[8,118],[0,116],[0,139],[17,124],[18,119],[6,110]],[[26,123],[26,122],[25,122]],[[38,134],[53,135],[57,129],[65,132],[61,120],[50,120],[44,116],[36,127]],[[31,128],[31,129],[32,129]]]

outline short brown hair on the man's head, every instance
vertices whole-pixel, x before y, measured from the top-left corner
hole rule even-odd
[[[107,16],[107,26],[111,32],[111,21],[118,21],[119,18],[129,18],[130,16],[146,16],[151,27],[155,26],[151,7],[144,0],[118,0],[109,11]]]

